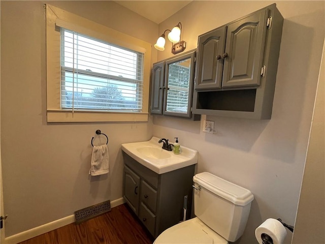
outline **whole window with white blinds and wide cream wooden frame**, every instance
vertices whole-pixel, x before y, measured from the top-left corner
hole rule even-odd
[[[150,43],[46,5],[46,62],[48,122],[148,121]]]

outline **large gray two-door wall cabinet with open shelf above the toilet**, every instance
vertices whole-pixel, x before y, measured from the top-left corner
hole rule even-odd
[[[199,36],[193,113],[271,118],[282,25],[273,4]]]

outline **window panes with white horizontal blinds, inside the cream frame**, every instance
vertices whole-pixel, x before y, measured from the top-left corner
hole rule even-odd
[[[61,108],[142,111],[144,53],[61,28]]]

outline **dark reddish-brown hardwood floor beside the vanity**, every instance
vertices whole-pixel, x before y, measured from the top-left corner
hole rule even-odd
[[[72,223],[19,244],[152,244],[153,237],[126,204],[81,224]]]

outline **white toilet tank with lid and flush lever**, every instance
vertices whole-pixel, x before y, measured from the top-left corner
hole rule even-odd
[[[194,214],[228,241],[244,232],[253,194],[208,172],[193,176]],[[200,190],[201,189],[201,190]]]

